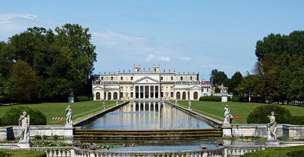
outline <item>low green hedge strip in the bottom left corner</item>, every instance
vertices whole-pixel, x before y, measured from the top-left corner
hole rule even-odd
[[[0,149],[0,157],[47,157],[43,151]]]

